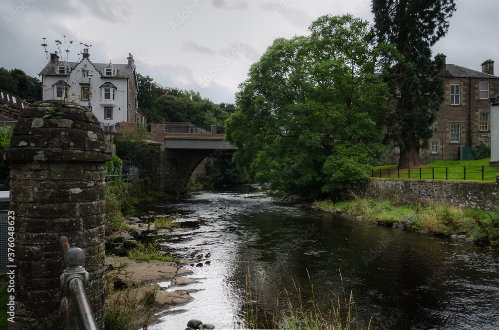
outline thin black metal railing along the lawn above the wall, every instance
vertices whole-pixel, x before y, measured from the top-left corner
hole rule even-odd
[[[497,173],[499,173],[499,167],[491,166],[382,168],[372,169],[371,177],[495,181]]]

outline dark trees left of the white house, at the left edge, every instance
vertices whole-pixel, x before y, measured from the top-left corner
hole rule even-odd
[[[9,71],[0,67],[0,89],[26,99],[28,103],[41,100],[41,81],[21,69]]]

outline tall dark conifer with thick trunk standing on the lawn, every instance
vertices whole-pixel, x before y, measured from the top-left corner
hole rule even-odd
[[[400,147],[399,168],[424,164],[432,124],[444,101],[442,60],[431,59],[433,46],[449,29],[455,0],[373,0],[376,41],[395,45],[398,56],[384,72],[394,102],[387,117],[387,143]]]

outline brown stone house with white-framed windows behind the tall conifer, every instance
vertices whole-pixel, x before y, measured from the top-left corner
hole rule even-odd
[[[445,62],[446,55],[436,57]],[[499,92],[492,60],[482,63],[482,72],[446,63],[439,76],[444,79],[445,101],[433,123],[429,149],[420,151],[428,162],[457,159],[459,147],[490,146],[491,98]],[[399,153],[392,148],[385,155],[398,160]]]

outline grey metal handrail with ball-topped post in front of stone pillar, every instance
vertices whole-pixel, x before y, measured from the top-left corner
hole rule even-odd
[[[88,303],[85,288],[88,286],[88,272],[81,264],[85,253],[80,248],[69,248],[65,236],[59,239],[66,269],[61,275],[61,290],[66,297],[61,300],[61,314],[64,330],[98,330],[92,308]]]

